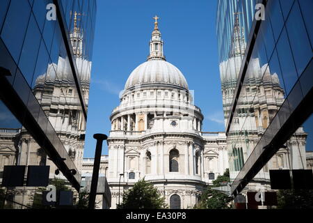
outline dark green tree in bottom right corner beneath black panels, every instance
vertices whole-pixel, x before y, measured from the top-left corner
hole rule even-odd
[[[279,190],[279,209],[312,209],[313,190]]]

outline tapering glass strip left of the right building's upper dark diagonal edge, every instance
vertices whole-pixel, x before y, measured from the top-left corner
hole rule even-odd
[[[216,36],[225,125],[230,114],[257,1],[218,1]],[[231,16],[230,16],[231,15]]]

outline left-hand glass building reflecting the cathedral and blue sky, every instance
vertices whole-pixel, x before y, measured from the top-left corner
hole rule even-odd
[[[6,166],[25,167],[23,178],[49,166],[79,191],[96,10],[95,0],[0,2],[0,208],[31,207],[38,190],[1,187]]]

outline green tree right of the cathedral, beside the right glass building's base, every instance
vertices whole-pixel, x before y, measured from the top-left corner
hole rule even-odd
[[[218,176],[214,180],[212,186],[207,187],[207,190],[200,196],[200,201],[198,205],[194,208],[196,209],[229,209],[231,208],[230,202],[232,197],[223,194],[217,190],[213,190],[212,187],[220,187],[225,183],[230,183],[230,171],[226,169],[225,173],[222,176]]]

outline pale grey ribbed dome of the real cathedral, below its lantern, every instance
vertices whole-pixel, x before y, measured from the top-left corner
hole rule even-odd
[[[137,85],[168,84],[188,89],[182,72],[165,60],[150,60],[138,66],[127,79],[125,90]]]

